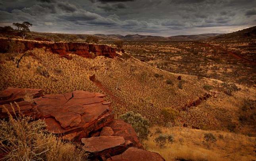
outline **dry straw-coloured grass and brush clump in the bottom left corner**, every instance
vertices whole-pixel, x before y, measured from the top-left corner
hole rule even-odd
[[[11,104],[13,109],[13,105]],[[19,109],[19,106],[17,105]],[[13,109],[14,110],[14,109]],[[14,112],[15,113],[15,112]],[[4,161],[82,161],[83,152],[69,142],[62,142],[47,133],[42,120],[9,113],[9,120],[0,121],[0,154]]]

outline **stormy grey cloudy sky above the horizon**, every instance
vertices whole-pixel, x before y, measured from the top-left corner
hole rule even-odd
[[[173,36],[256,25],[256,0],[0,0],[0,26],[74,34]]]

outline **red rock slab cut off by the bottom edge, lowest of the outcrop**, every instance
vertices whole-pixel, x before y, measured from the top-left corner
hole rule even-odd
[[[122,154],[108,158],[107,161],[165,161],[165,159],[158,153],[131,147]]]

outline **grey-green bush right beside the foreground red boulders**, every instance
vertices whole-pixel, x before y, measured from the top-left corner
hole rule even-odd
[[[120,116],[120,119],[132,125],[140,139],[147,139],[150,133],[150,123],[141,114],[130,111]]]

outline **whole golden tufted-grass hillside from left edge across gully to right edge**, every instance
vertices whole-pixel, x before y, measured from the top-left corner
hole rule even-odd
[[[0,54],[4,63],[0,64],[0,90],[8,87],[41,88],[45,94],[66,93],[74,90],[100,92],[112,101],[115,116],[128,111],[140,113],[153,124],[163,124],[161,110],[165,108],[179,111],[174,125],[187,124],[200,129],[224,129],[236,124],[236,131],[252,133],[252,125],[239,122],[239,109],[247,97],[255,100],[255,88],[242,88],[241,91],[226,95],[219,88],[221,81],[198,79],[195,76],[169,73],[141,62],[133,57],[114,59],[97,56],[86,59],[71,54],[72,60],[60,58],[45,49],[34,49],[29,56],[23,58],[20,67],[8,58],[8,54]],[[30,64],[29,68],[27,67]],[[38,72],[38,67],[47,70],[47,77]],[[91,75],[101,85],[90,81]],[[155,75],[161,77],[155,77]],[[179,89],[181,76],[183,89]],[[166,81],[173,84],[167,84]],[[211,85],[212,90],[204,89]],[[197,107],[182,110],[186,105],[210,93],[207,101]]]

